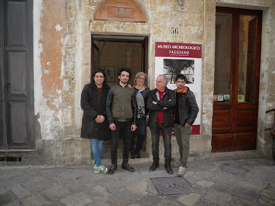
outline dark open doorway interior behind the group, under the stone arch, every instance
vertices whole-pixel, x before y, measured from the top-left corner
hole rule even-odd
[[[122,35],[91,35],[91,75],[96,68],[103,68],[107,84],[112,87],[118,83],[118,71],[126,66],[131,69],[130,84],[134,76],[142,71],[148,73],[148,37]],[[147,84],[147,82],[146,82]],[[130,134],[129,134],[130,138]],[[147,157],[146,138],[143,142],[141,158]],[[118,146],[118,159],[122,158],[123,138]],[[110,158],[111,140],[104,143],[102,158]]]

